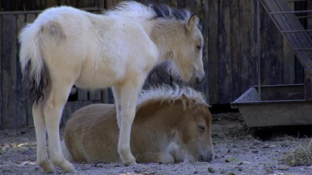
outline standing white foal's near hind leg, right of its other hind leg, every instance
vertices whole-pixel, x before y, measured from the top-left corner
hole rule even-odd
[[[51,162],[65,172],[76,172],[73,165],[64,158],[61,148],[59,129],[63,108],[69,96],[73,82],[74,79],[68,79],[68,77],[66,78],[65,76],[53,77],[52,75],[51,92],[44,105]]]

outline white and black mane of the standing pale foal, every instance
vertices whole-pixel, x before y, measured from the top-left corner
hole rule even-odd
[[[134,19],[174,19],[186,21],[190,17],[190,12],[186,9],[174,9],[167,5],[151,4],[143,5],[134,1],[121,2],[111,10],[104,12],[105,15],[109,16],[123,16]]]

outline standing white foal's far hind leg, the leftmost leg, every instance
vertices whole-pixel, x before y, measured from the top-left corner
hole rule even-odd
[[[47,155],[46,123],[42,102],[32,106],[32,115],[37,139],[37,164],[43,168],[44,172],[53,172],[54,167]]]

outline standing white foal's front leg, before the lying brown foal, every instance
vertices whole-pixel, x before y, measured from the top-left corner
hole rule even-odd
[[[138,84],[133,82],[125,83],[123,86],[114,87],[119,89],[120,92],[120,135],[118,141],[118,153],[125,166],[135,164],[135,158],[131,154],[130,150],[130,133],[133,119],[135,116],[136,99],[138,99],[139,93],[142,89],[144,79]]]

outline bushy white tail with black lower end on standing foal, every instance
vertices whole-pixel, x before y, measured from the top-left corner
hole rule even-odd
[[[23,83],[28,99],[32,103],[44,99],[43,91],[48,83],[41,56],[42,28],[43,26],[38,23],[28,24],[18,36]]]

